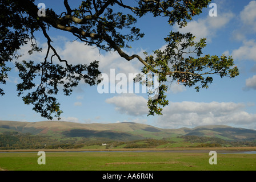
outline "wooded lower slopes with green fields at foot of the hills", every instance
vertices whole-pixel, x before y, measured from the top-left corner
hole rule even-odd
[[[183,142],[190,142],[194,147],[255,147],[256,141],[226,141],[213,137],[180,136]],[[53,138],[21,134],[18,132],[5,132],[0,134],[0,150],[14,149],[77,149],[84,146],[101,146],[107,143],[106,148],[154,148],[168,143],[177,143],[170,139],[143,139],[133,141],[110,140],[108,138]],[[186,147],[186,146],[184,146]]]

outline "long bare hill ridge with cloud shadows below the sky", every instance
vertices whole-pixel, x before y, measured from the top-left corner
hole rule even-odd
[[[198,126],[193,129],[161,129],[134,122],[74,123],[63,121],[18,122],[0,121],[0,134],[6,131],[63,137],[98,137],[114,140],[162,139],[182,135],[215,137],[225,140],[256,140],[256,130],[225,125]]]

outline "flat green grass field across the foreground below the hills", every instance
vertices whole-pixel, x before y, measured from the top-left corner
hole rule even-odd
[[[255,154],[217,154],[210,165],[207,152],[37,152],[0,153],[0,169],[10,171],[255,171]]]

